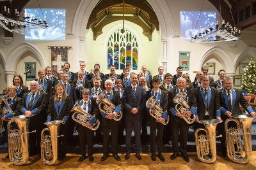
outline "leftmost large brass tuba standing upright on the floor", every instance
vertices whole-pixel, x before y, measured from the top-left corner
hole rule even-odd
[[[10,161],[17,166],[22,166],[28,162],[28,119],[24,115],[11,118],[8,122],[8,153]],[[18,129],[11,129],[12,122],[15,122]],[[36,131],[32,131],[36,132]]]

